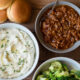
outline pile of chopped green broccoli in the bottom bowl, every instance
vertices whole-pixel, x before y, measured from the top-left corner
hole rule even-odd
[[[54,61],[36,80],[80,80],[80,71],[69,70],[66,64]]]

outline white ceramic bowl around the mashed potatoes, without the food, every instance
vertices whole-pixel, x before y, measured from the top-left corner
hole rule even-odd
[[[22,26],[22,25],[15,24],[15,23],[5,23],[5,24],[0,24],[0,29],[2,29],[2,28],[18,28],[18,29],[21,29],[21,30],[25,31],[31,37],[31,39],[33,40],[33,43],[35,45],[35,49],[36,49],[35,61],[34,61],[34,64],[33,64],[32,68],[28,72],[26,72],[22,76],[14,78],[14,79],[0,79],[0,80],[22,80],[22,79],[28,77],[33,72],[33,70],[35,69],[35,67],[38,63],[39,46],[38,46],[37,40],[34,37],[34,35],[32,34],[32,32],[30,30],[28,30],[27,28],[25,28],[24,26]]]

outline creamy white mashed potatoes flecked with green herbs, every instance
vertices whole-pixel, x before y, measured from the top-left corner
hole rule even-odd
[[[33,41],[16,28],[0,30],[0,78],[16,78],[32,67],[35,57]]]

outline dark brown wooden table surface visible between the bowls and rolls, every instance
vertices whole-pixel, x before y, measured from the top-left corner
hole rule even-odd
[[[29,0],[29,2],[31,3],[32,7],[33,7],[33,14],[32,14],[32,20],[29,23],[23,24],[24,26],[28,27],[35,35],[34,32],[34,22],[35,22],[35,18],[38,14],[38,12],[41,10],[41,8],[43,6],[45,6],[46,4],[49,4],[51,2],[53,2],[55,0]],[[64,0],[64,1],[69,1],[72,2],[74,4],[76,4],[78,7],[80,7],[80,0]],[[39,42],[39,41],[38,41]],[[40,58],[39,58],[39,62],[37,67],[44,61],[53,58],[53,57],[69,57],[72,59],[75,59],[76,61],[80,62],[80,47],[77,48],[76,50],[74,50],[73,52],[67,53],[67,54],[56,54],[56,53],[52,53],[50,51],[48,51],[47,49],[45,49],[40,43]],[[36,70],[36,69],[35,69]],[[35,72],[34,70],[34,72]],[[24,79],[24,80],[32,80],[32,75],[30,75],[28,78]]]

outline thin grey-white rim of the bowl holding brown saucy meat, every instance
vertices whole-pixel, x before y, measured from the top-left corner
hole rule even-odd
[[[68,53],[68,52],[71,52],[73,50],[75,50],[76,48],[78,48],[80,45],[77,43],[75,44],[74,46],[72,46],[71,48],[68,48],[68,49],[65,49],[65,50],[59,50],[59,49],[51,49],[49,46],[47,46],[39,37],[38,35],[38,30],[37,30],[37,25],[38,25],[38,21],[39,21],[39,17],[42,16],[42,14],[49,8],[51,7],[55,2],[52,2],[52,3],[49,3],[48,5],[44,6],[40,12],[38,13],[37,17],[36,17],[36,20],[35,20],[35,33],[38,37],[38,40],[40,41],[40,43],[42,44],[43,47],[45,47],[47,50],[51,51],[51,52],[55,52],[55,53]],[[80,15],[80,8],[71,3],[71,2],[67,2],[67,1],[59,1],[60,5],[68,5],[68,6],[71,6],[79,15]]]

